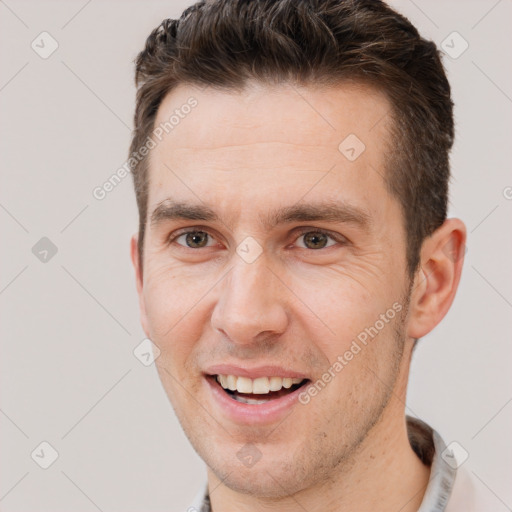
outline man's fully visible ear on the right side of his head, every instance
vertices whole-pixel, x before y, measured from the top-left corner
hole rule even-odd
[[[421,247],[420,268],[411,292],[407,335],[421,338],[446,315],[459,286],[466,226],[460,219],[447,219]]]

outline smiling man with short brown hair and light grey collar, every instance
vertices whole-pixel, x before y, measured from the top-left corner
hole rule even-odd
[[[136,83],[131,255],[208,466],[189,510],[483,510],[405,416],[466,238],[435,45],[379,1],[213,0],[153,31]]]

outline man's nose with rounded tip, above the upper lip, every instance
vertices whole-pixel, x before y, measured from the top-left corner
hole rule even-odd
[[[211,323],[231,343],[257,344],[279,337],[288,325],[283,284],[260,257],[238,261],[221,282]]]

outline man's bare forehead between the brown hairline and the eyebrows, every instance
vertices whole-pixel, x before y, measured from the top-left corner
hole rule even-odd
[[[167,130],[150,154],[148,214],[170,196],[239,214],[271,198],[274,206],[306,195],[360,206],[386,199],[390,110],[382,93],[360,84],[179,86],[155,121]]]

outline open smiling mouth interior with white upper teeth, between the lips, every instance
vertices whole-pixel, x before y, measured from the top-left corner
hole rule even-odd
[[[264,405],[279,401],[306,386],[310,380],[300,377],[257,377],[237,375],[208,375],[211,384],[230,400],[247,405]]]

